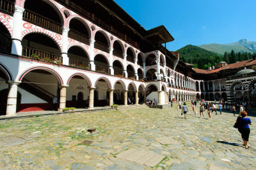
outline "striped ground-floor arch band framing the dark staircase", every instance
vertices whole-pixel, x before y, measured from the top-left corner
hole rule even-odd
[[[47,72],[50,72],[52,73],[52,75],[54,75],[54,77],[56,77],[58,83],[60,85],[64,85],[63,83],[63,79],[61,78],[60,74],[57,73],[55,70],[52,70],[52,68],[48,68],[46,66],[34,66],[34,67],[31,67],[31,68],[28,68],[27,70],[25,70],[24,72],[22,72],[18,77],[18,81],[21,81],[23,79],[23,77],[28,73],[28,72],[31,72],[32,70],[45,70]]]

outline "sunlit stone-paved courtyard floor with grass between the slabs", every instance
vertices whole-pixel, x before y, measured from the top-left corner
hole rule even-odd
[[[174,107],[134,106],[0,120],[0,169],[256,169],[256,117],[246,150],[236,116],[190,108],[187,120]]]

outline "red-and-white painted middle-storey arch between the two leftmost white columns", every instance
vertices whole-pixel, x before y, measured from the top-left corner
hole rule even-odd
[[[24,24],[29,24],[29,23],[24,23]],[[33,26],[33,25],[31,25],[31,26]],[[33,28],[31,28],[31,29],[26,29],[26,30],[22,31],[22,33],[21,33],[21,40],[24,38],[24,36],[26,36],[28,34],[31,34],[31,33],[40,33],[42,35],[48,36],[49,38],[51,38],[56,43],[56,45],[58,46],[59,50],[60,51],[62,50],[61,36],[58,35],[57,33],[49,32],[46,29],[33,29]]]

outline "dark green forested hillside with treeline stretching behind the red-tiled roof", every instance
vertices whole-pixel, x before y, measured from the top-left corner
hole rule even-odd
[[[217,54],[216,52],[211,52],[209,50],[202,49],[195,45],[186,45],[181,49],[177,50],[180,54],[180,60],[184,63],[189,63],[194,65],[194,68],[200,68],[207,70],[209,66],[217,66],[220,61],[225,61],[228,64],[236,63],[237,61],[244,61],[247,59],[252,59],[255,52],[225,52],[223,55]]]

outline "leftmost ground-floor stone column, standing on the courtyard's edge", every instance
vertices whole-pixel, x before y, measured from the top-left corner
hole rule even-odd
[[[7,97],[6,115],[16,114],[18,85],[21,81],[8,81],[9,93]]]

